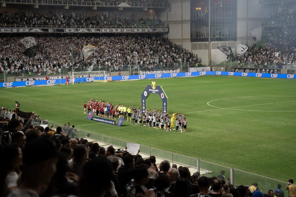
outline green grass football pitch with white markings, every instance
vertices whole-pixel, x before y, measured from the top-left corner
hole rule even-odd
[[[296,80],[230,76],[157,79],[168,112],[184,113],[187,133],[94,124],[83,114],[91,98],[141,105],[151,80],[0,89],[1,106],[35,111],[44,120],[287,181],[296,178]],[[147,108],[162,108],[150,94]],[[294,169],[294,170],[293,170]]]

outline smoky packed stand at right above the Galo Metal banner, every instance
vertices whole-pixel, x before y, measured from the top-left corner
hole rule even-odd
[[[271,38],[271,37],[269,37]],[[254,62],[255,66],[263,65],[264,67],[275,66],[283,68],[287,64],[296,64],[296,33],[295,29],[276,30],[272,34],[272,40],[264,45],[253,44],[248,46],[248,51],[243,57],[238,57],[238,64],[247,64]],[[275,53],[278,53],[276,56]]]

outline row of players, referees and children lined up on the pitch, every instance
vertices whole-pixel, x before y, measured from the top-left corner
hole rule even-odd
[[[187,121],[183,113],[173,113],[170,117],[168,112],[164,113],[163,110],[148,110],[141,109],[137,110],[136,105],[126,107],[123,104],[116,104],[115,107],[112,102],[107,102],[103,100],[91,99],[88,103],[84,102],[83,110],[86,114],[86,109],[88,113],[92,111],[94,115],[101,116],[102,118],[110,118],[116,120],[116,118],[123,117],[124,121],[130,121],[131,124],[139,124],[140,126],[149,126],[156,129],[172,131],[181,131],[186,133]],[[176,129],[175,129],[176,120]]]

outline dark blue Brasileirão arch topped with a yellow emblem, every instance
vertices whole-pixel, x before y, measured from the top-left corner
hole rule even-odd
[[[146,88],[144,89],[144,92],[142,93],[141,97],[141,108],[142,108],[142,113],[144,113],[146,109],[146,99],[150,94],[158,94],[159,97],[161,98],[163,102],[163,112],[166,113],[168,111],[168,97],[163,91],[163,88],[161,86],[156,85],[156,81],[151,81],[151,85],[147,85]]]

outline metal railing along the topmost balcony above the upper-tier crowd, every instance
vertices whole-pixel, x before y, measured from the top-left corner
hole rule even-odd
[[[67,0],[1,0],[0,3],[7,4],[39,4],[39,5],[57,5],[57,6],[91,6],[91,7],[149,7],[149,8],[169,8],[168,3],[141,3],[139,1],[67,1]]]

